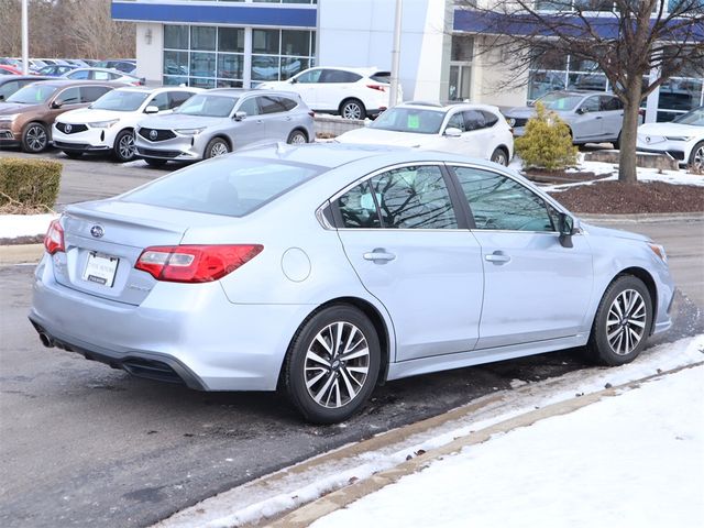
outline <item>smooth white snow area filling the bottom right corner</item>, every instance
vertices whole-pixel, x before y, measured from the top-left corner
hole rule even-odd
[[[701,526],[704,366],[433,462],[311,526]]]

